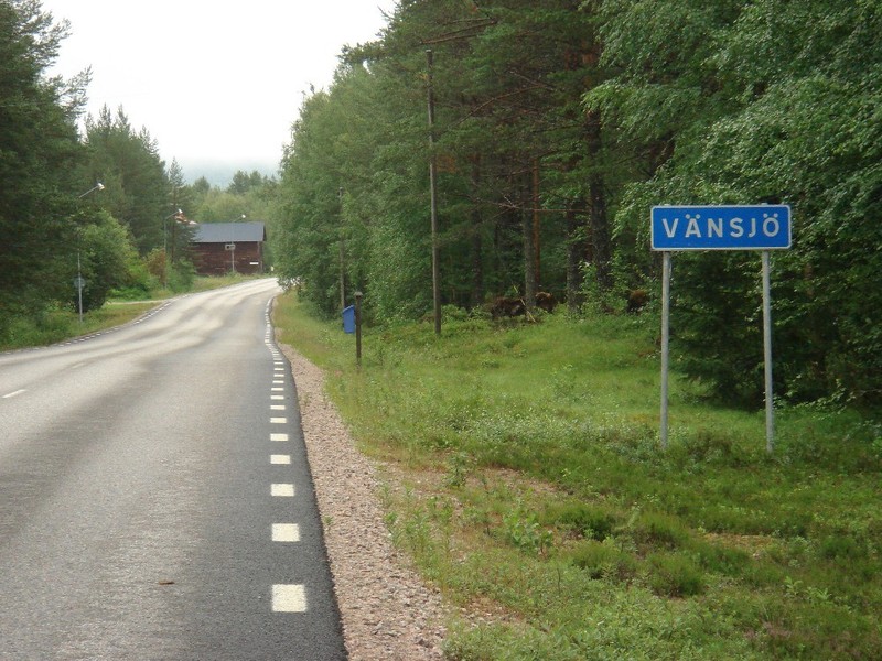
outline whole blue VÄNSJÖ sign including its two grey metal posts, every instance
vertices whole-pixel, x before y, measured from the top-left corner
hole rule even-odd
[[[670,252],[673,250],[762,250],[763,361],[765,364],[766,452],[775,446],[772,393],[771,250],[790,247],[788,205],[656,206],[652,248],[663,252],[662,270],[662,447],[668,444],[668,361],[670,339]]]

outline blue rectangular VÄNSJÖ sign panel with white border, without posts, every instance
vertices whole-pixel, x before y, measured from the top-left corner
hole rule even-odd
[[[653,250],[785,250],[790,247],[790,207],[653,207]]]

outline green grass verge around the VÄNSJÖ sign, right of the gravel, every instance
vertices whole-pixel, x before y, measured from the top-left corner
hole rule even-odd
[[[396,467],[396,544],[482,616],[448,658],[882,658],[872,419],[781,409],[768,456],[762,412],[673,379],[663,452],[649,316],[366,329],[361,369],[293,294],[275,318]]]

